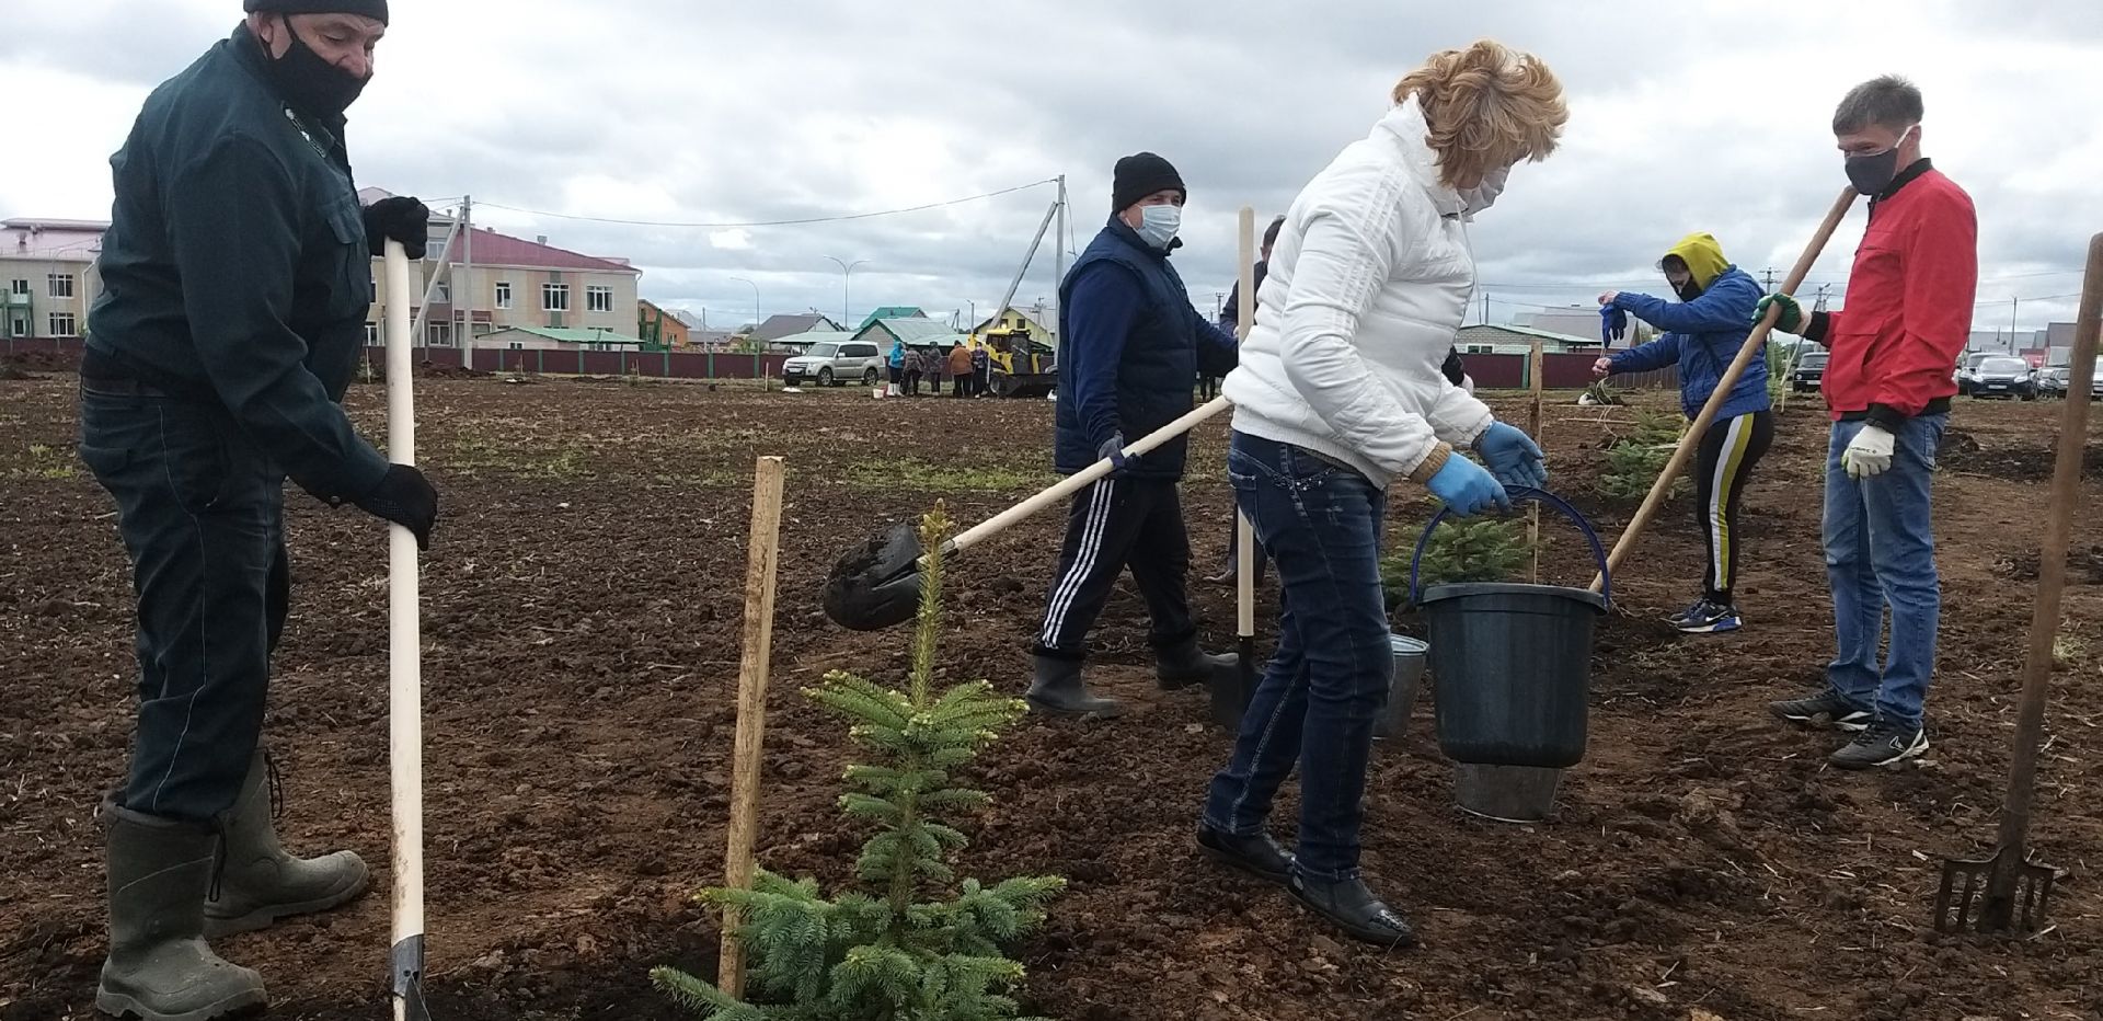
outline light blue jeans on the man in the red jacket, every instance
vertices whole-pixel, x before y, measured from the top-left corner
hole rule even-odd
[[[1863,425],[1834,423],[1825,453],[1825,575],[1838,638],[1825,680],[1849,705],[1882,722],[1920,726],[1943,613],[1928,484],[1949,417],[1907,421],[1897,434],[1891,472],[1857,482],[1846,478],[1840,455]],[[1891,653],[1880,663],[1886,606]]]

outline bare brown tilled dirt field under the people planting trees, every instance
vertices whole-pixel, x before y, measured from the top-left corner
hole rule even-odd
[[[711,973],[715,922],[688,893],[719,876],[751,461],[789,459],[761,863],[837,880],[841,733],[795,693],[831,667],[896,680],[904,632],[818,610],[833,556],[951,501],[976,522],[1047,480],[1049,402],[871,402],[700,385],[494,379],[421,387],[446,518],[427,560],[431,1006],[452,1021],[660,1019],[646,968]],[[1655,398],[1651,398],[1655,400]],[[351,406],[379,436],[383,394]],[[1815,404],[1815,398],[1813,398]],[[1064,874],[1022,947],[1028,1002],[1066,1021],[1157,1019],[2092,1019],[2103,1015],[2103,526],[2078,533],[2040,857],[2071,869],[2031,941],[1926,933],[1937,863],[1989,850],[2029,621],[2057,404],[1962,402],[1937,482],[1945,617],[1931,762],[1840,775],[1828,735],[1762,714],[1830,655],[1819,554],[1823,421],[1798,402],[1748,495],[1750,627],[1680,638],[1697,594],[1685,505],[1617,579],[1594,663],[1592,754],[1550,825],[1453,808],[1430,720],[1377,754],[1365,865],[1424,935],[1348,945],[1281,893],[1201,861],[1190,827],[1228,739],[1203,697],[1155,693],[1144,610],[1121,592],[1100,682],[1136,712],[1037,718],[984,760],[995,810],[965,874]],[[1499,411],[1518,415],[1516,402]],[[1554,486],[1590,497],[1626,413],[1550,408]],[[1222,423],[1188,484],[1199,573],[1226,541]],[[95,804],[130,733],[128,573],[105,495],[72,459],[72,381],[0,383],[0,1019],[88,1017],[103,956]],[[351,846],[383,874],[385,543],[355,512],[290,497],[294,610],[267,737],[288,842]],[[1398,495],[1394,541],[1426,505]],[[1058,516],[955,562],[951,678],[1020,693]],[[1554,524],[1550,570],[1581,583]],[[2086,564],[2086,566],[2082,566]],[[1195,583],[1207,638],[1232,596]],[[1266,604],[1264,617],[1270,619]],[[1411,621],[1403,621],[1405,627]],[[1291,789],[1291,787],[1289,787]],[[1295,800],[1281,804],[1289,829]],[[1289,834],[1287,834],[1289,836]],[[381,890],[385,876],[381,876]],[[387,899],[227,939],[286,1019],[383,1017]]]

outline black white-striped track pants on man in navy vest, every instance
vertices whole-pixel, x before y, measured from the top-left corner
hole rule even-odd
[[[1085,657],[1087,632],[1127,566],[1146,598],[1155,646],[1197,634],[1184,592],[1190,533],[1184,530],[1176,480],[1106,478],[1075,495],[1066,516],[1066,545],[1045,600],[1045,625],[1037,632],[1033,653]]]

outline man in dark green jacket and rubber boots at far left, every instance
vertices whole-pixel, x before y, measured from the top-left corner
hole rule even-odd
[[[385,0],[246,0],[248,19],[147,99],[111,158],[103,297],[80,366],[80,457],[118,505],[139,598],[139,730],[105,806],[109,958],[97,1006],[204,1021],[265,1002],[206,937],[336,907],[341,850],[294,859],[261,749],[290,575],[284,480],[429,543],[437,493],[339,400],[372,255],[421,257],[412,198],[360,208],[345,107]],[[379,549],[379,547],[374,547]]]

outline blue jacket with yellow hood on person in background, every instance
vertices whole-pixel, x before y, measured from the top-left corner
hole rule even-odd
[[[1676,364],[1680,368],[1680,408],[1687,417],[1701,413],[1724,368],[1745,347],[1752,333],[1752,309],[1760,303],[1760,284],[1743,269],[1722,261],[1716,240],[1697,234],[1672,248],[1680,255],[1701,293],[1693,301],[1674,303],[1651,295],[1619,293],[1611,307],[1628,309],[1642,322],[1668,331],[1642,347],[1611,356],[1613,371],[1651,373]],[[1706,278],[1703,278],[1706,276]],[[1718,419],[1767,411],[1767,358],[1754,358],[1716,411]]]

